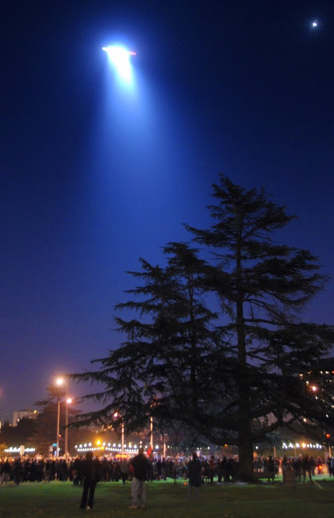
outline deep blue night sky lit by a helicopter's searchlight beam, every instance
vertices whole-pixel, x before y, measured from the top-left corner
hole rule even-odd
[[[0,23],[0,412],[117,347],[126,270],[210,224],[219,172],[297,214],[278,237],[333,275],[333,2],[12,1]],[[333,292],[303,318],[333,323]]]

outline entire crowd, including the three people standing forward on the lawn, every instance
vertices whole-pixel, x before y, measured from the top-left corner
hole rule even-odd
[[[274,481],[277,473],[283,475],[290,473],[295,481],[301,482],[323,472],[324,464],[329,476],[334,477],[334,457],[327,456],[325,462],[320,456],[314,459],[308,455],[296,457],[274,458],[256,456],[254,458],[254,476],[259,478],[272,478]],[[19,485],[21,482],[71,481],[73,485],[81,485],[83,488],[80,507],[92,509],[96,485],[100,481],[131,482],[132,503],[129,509],[145,509],[145,483],[146,481],[160,481],[169,478],[188,479],[188,498],[198,498],[199,490],[204,483],[229,483],[237,478],[238,458],[198,456],[193,452],[191,456],[177,454],[175,457],[150,457],[148,458],[142,449],[138,455],[120,457],[103,455],[94,457],[92,451],[86,452],[85,457],[79,455],[68,458],[42,458],[36,456],[29,458],[5,457],[0,459],[1,484],[13,481]]]

